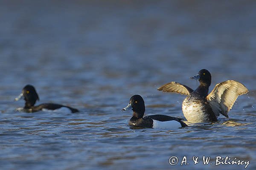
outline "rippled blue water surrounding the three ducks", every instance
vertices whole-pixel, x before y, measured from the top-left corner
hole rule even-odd
[[[254,1],[0,2],[0,165],[3,170],[256,169]],[[250,91],[229,119],[183,129],[132,129],[121,112],[134,94],[146,115],[183,117],[185,96],[156,89],[201,68],[212,86],[227,79]],[[26,84],[40,101],[79,113],[14,112]],[[179,163],[169,164],[177,156]],[[189,165],[180,166],[183,156]],[[193,164],[192,157],[200,161]],[[210,156],[212,165],[204,165]]]

